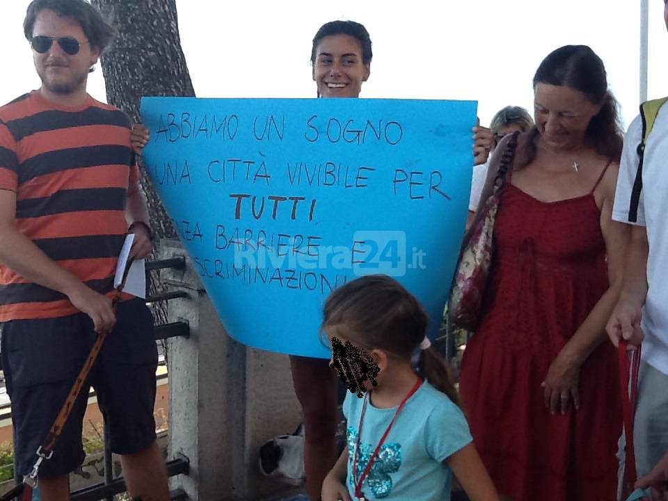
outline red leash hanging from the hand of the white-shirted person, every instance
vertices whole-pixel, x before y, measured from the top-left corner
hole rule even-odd
[[[633,484],[637,480],[635,470],[635,448],[633,446],[633,419],[635,401],[638,393],[638,373],[640,370],[640,347],[629,352],[628,342],[619,342],[619,385],[621,390],[621,406],[624,416],[624,436],[626,437],[626,463],[622,478],[622,499],[633,492]],[[633,360],[630,360],[632,358]]]

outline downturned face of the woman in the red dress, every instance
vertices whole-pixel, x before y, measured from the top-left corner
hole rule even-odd
[[[580,90],[536,84],[534,118],[543,143],[551,150],[571,150],[584,143],[591,118],[601,111]]]

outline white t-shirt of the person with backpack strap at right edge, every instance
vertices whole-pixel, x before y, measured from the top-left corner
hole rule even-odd
[[[637,147],[642,136],[642,119],[628,127],[621,154],[617,192],[612,218],[629,223],[628,209],[638,169]],[[649,290],[642,313],[642,358],[668,375],[668,105],[661,107],[645,145],[642,192],[637,222],[645,226],[649,241],[647,283]]]

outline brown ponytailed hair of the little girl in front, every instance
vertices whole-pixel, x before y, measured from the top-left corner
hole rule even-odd
[[[324,307],[322,333],[328,327],[341,328],[360,347],[410,360],[424,340],[427,324],[427,312],[397,280],[369,275],[332,292]],[[459,403],[447,362],[434,347],[420,351],[418,368],[434,388]]]

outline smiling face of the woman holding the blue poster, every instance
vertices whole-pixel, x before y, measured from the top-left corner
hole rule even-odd
[[[362,58],[362,45],[350,35],[330,35],[315,49],[313,80],[322,97],[358,97],[367,81],[370,64]]]

